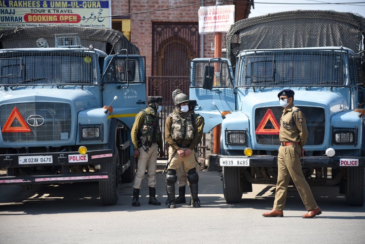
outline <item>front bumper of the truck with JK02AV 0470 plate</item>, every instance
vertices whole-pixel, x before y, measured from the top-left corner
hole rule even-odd
[[[87,155],[87,157],[85,155]],[[81,155],[79,152],[2,154],[0,155],[0,168],[7,168],[7,170],[9,170],[11,168],[21,167],[61,166],[61,172],[55,175],[0,175],[0,185],[50,184],[107,180],[108,172],[69,173],[70,166],[86,164],[102,165],[105,162],[112,162],[113,160],[111,149],[88,151],[85,155],[83,155],[85,157],[81,157],[80,159]],[[24,160],[22,158],[33,160]],[[48,160],[52,159],[52,162],[44,163],[41,162],[41,160],[36,162],[34,160],[42,158],[47,158]]]

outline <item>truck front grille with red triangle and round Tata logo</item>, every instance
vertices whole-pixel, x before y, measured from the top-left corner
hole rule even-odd
[[[62,102],[2,104],[0,125],[4,142],[64,141],[71,133],[71,108]]]

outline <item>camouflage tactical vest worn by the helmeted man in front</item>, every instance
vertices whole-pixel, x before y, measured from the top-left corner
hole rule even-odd
[[[172,118],[171,137],[174,141],[193,140],[194,138],[194,115],[182,119],[176,114],[169,115]]]

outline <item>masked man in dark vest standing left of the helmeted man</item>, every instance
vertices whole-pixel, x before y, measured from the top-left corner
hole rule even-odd
[[[161,96],[149,96],[147,108],[136,116],[131,131],[133,155],[138,158],[137,173],[133,185],[132,206],[140,206],[139,190],[146,169],[148,170],[148,186],[150,190],[149,204],[161,205],[156,199],[156,164],[157,156],[164,156],[162,134],[158,113],[161,112]]]

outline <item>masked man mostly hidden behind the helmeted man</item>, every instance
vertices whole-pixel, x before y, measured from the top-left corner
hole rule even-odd
[[[194,108],[197,106],[196,100],[189,100],[189,113],[193,114],[195,117],[196,124],[198,126],[198,144],[201,143],[201,138],[203,137],[203,128],[204,128],[204,117],[200,114],[196,114],[194,112]],[[195,153],[198,152],[197,147],[195,147]],[[199,164],[196,163],[196,170],[199,171]],[[184,171],[184,164],[182,163],[180,168],[177,170],[177,185],[179,187],[179,195],[175,199],[175,203],[186,203],[185,192],[186,192],[186,185],[188,184],[187,181],[187,174]],[[192,204],[192,199],[190,199],[190,205]]]

